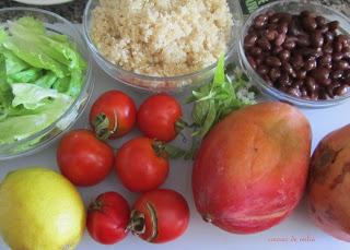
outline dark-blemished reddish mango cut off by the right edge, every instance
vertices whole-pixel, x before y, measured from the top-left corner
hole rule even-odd
[[[308,210],[327,234],[350,241],[350,124],[316,147],[307,183]]]

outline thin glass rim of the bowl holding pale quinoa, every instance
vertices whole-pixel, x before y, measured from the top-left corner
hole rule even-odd
[[[145,80],[145,81],[153,81],[153,82],[184,81],[184,80],[188,80],[188,79],[201,75],[201,74],[207,73],[208,71],[211,71],[211,70],[217,68],[217,62],[214,62],[214,63],[212,63],[210,66],[207,66],[206,68],[203,68],[201,70],[197,70],[197,71],[191,72],[191,73],[178,74],[178,75],[174,75],[174,76],[153,76],[153,75],[135,73],[133,71],[125,70],[121,67],[112,63],[109,60],[107,60],[100,52],[100,50],[96,48],[95,44],[93,43],[92,37],[90,36],[90,32],[89,32],[90,27],[89,27],[88,17],[89,17],[90,12],[92,11],[91,5],[95,1],[98,1],[98,0],[89,0],[86,5],[85,5],[84,13],[83,13],[83,23],[82,23],[82,25],[83,25],[83,35],[84,35],[86,44],[89,45],[89,48],[92,50],[92,53],[94,56],[97,56],[98,59],[102,60],[104,63],[106,63],[108,67],[114,68],[115,70],[119,71],[122,74],[128,74],[131,78],[141,79],[141,80]],[[242,13],[240,13],[240,15],[243,19]],[[242,28],[242,24],[241,24],[240,28]],[[240,36],[240,32],[237,32],[237,36]],[[233,39],[233,41],[230,43],[230,46],[228,46],[228,49],[226,49],[226,52],[225,52],[225,60],[228,60],[231,57],[231,55],[234,51],[237,43],[238,43],[237,38]],[[130,83],[128,83],[128,85],[140,87],[140,86],[138,86],[136,84],[130,84]],[[186,86],[190,86],[190,84],[184,85],[182,87],[186,87]]]

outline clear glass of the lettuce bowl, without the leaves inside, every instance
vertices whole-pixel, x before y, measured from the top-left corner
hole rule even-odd
[[[91,60],[85,43],[73,24],[66,19],[39,9],[32,8],[5,8],[0,9],[0,23],[7,26],[9,20],[22,16],[33,16],[44,22],[45,27],[52,33],[67,35],[88,62],[84,83],[80,95],[66,112],[46,129],[19,141],[9,144],[0,144],[0,160],[25,156],[43,150],[52,143],[63,131],[68,130],[83,112],[93,91]]]

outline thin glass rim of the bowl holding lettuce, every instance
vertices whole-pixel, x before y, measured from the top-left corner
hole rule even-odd
[[[83,56],[83,58],[86,60],[88,67],[86,67],[86,72],[85,72],[85,75],[86,75],[86,76],[85,76],[85,80],[84,80],[84,85],[83,85],[83,87],[81,88],[79,96],[77,96],[77,98],[75,98],[74,102],[70,105],[70,107],[69,107],[58,119],[56,119],[50,126],[48,126],[48,127],[45,128],[44,130],[40,130],[40,131],[38,131],[38,132],[36,132],[36,133],[27,136],[27,138],[18,140],[18,141],[12,142],[12,143],[3,143],[3,144],[0,144],[0,150],[1,150],[1,148],[13,147],[13,146],[21,146],[21,144],[23,144],[23,143],[28,143],[28,142],[31,142],[31,141],[39,138],[39,136],[45,135],[45,134],[48,133],[49,131],[51,131],[51,130],[57,126],[57,123],[60,122],[63,118],[68,117],[68,116],[71,114],[71,111],[77,107],[77,105],[83,99],[84,93],[86,92],[86,90],[89,90],[90,87],[93,87],[91,55],[90,55],[89,50],[84,47],[85,41],[84,41],[84,39],[82,38],[81,33],[79,32],[79,29],[78,29],[70,21],[68,21],[67,19],[65,19],[65,17],[62,17],[61,15],[56,14],[56,13],[54,13],[54,12],[51,12],[51,11],[42,10],[42,9],[38,9],[38,8],[30,8],[30,7],[1,8],[1,9],[0,9],[0,14],[1,14],[1,13],[5,13],[5,12],[15,12],[15,11],[23,11],[23,12],[28,11],[28,12],[38,13],[38,14],[45,14],[45,15],[55,17],[55,19],[57,19],[57,20],[59,20],[59,21],[62,21],[62,22],[63,22],[63,25],[69,26],[69,28],[70,28],[71,31],[74,31],[74,32],[75,32],[77,37],[71,37],[70,35],[67,35],[67,34],[65,34],[65,35],[67,35],[68,37],[70,37],[70,38],[74,41],[74,44],[75,44],[77,46],[79,46],[79,49],[80,49],[81,51],[83,51],[83,55],[82,55],[82,56]],[[0,24],[0,25],[1,25],[1,24]],[[91,96],[91,93],[89,94],[89,98],[90,98],[90,96]],[[79,114],[78,116],[80,116],[80,115],[81,115],[81,114]],[[77,119],[75,119],[74,121],[77,121]],[[61,131],[61,132],[62,132],[62,131]],[[60,132],[60,133],[61,133],[61,132]],[[60,134],[60,133],[59,133],[59,134]],[[45,140],[45,141],[38,143],[38,147],[44,146],[43,144],[45,144],[46,141],[51,141],[51,140],[50,140],[50,139],[47,139],[47,140]],[[28,150],[26,150],[26,151],[19,152],[19,153],[15,153],[15,154],[13,154],[13,155],[9,155],[8,157],[9,157],[9,158],[10,158],[10,157],[15,157],[16,154],[26,154],[26,153],[28,153],[28,152],[32,151],[32,150],[35,150],[35,146],[34,146],[34,148],[28,148]],[[2,157],[2,156],[1,156],[1,157]],[[5,156],[5,158],[8,158],[8,157]]]

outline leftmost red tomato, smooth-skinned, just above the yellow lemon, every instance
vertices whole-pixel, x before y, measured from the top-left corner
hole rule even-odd
[[[114,153],[92,131],[74,130],[62,138],[57,150],[57,163],[62,175],[73,184],[93,186],[110,172]]]

